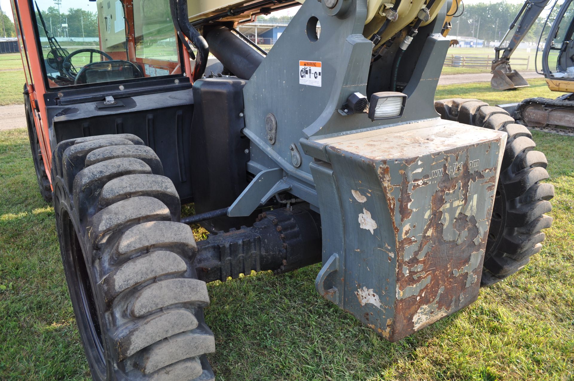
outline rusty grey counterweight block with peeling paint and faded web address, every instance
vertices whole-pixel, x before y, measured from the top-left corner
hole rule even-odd
[[[506,134],[433,119],[317,142],[344,227],[324,296],[390,341],[475,301]]]

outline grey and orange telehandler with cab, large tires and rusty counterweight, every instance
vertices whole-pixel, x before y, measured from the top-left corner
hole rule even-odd
[[[322,262],[320,296],[397,341],[527,265],[544,154],[501,108],[433,100],[458,1],[307,0],[267,53],[237,26],[299,2],[63,0],[88,38],[11,0],[95,380],[214,380],[206,283],[252,270]]]

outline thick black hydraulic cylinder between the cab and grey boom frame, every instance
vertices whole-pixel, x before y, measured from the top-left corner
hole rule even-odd
[[[250,79],[265,58],[241,37],[225,26],[218,26],[205,34],[210,52],[230,72],[241,79]]]

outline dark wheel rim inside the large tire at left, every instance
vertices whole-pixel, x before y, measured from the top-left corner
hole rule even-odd
[[[69,267],[70,293],[76,302],[76,321],[94,370],[106,374],[102,329],[82,245],[66,212],[61,217],[63,246]],[[94,371],[92,370],[92,371]]]

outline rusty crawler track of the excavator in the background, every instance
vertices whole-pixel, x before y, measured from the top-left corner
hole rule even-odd
[[[532,130],[574,136],[574,100],[564,99],[571,99],[572,94],[561,98],[525,99],[515,109],[514,118]],[[569,123],[559,124],[564,121]]]

